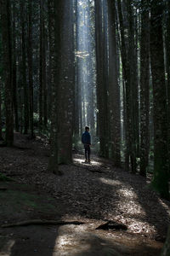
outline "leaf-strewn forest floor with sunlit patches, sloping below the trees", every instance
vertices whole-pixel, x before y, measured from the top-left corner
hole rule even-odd
[[[83,164],[82,154],[55,176],[48,157],[43,137],[15,133],[14,148],[0,148],[0,172],[14,179],[0,182],[1,256],[160,255],[170,203],[150,189],[149,177],[94,155]]]

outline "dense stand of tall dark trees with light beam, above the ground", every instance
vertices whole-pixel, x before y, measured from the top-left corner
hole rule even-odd
[[[94,151],[169,199],[170,3],[1,0],[0,138],[46,135],[48,171]]]

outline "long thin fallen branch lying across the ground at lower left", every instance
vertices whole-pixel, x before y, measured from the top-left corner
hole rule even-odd
[[[62,220],[46,220],[46,219],[31,219],[31,220],[24,220],[14,224],[3,224],[2,228],[10,228],[10,227],[19,227],[19,226],[27,226],[27,225],[81,225],[84,224],[83,222],[79,221],[62,221]]]

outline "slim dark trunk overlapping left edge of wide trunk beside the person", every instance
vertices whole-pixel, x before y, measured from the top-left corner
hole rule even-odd
[[[54,83],[52,84],[52,105],[51,105],[51,154],[48,161],[48,171],[54,174],[59,172],[59,80],[60,80],[60,63],[61,63],[61,31],[64,15],[63,0],[54,0]]]

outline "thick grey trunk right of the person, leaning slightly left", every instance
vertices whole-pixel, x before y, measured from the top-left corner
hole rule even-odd
[[[116,7],[108,0],[109,15],[109,111],[111,129],[111,158],[116,166],[121,165],[121,116],[120,87],[117,79]]]

